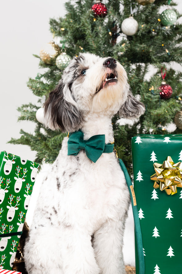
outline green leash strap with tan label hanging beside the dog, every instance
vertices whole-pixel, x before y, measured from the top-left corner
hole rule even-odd
[[[118,158],[119,159],[119,158]],[[138,257],[139,257],[139,274],[145,274],[145,262],[144,262],[144,255],[143,255],[143,242],[142,242],[142,232],[140,228],[140,221],[139,221],[139,214],[134,194],[133,185],[131,183],[130,176],[128,171],[121,159],[119,159],[120,167],[125,175],[126,183],[130,192],[131,197],[131,205],[133,209],[133,217],[134,217],[134,228],[136,234],[136,241],[137,241],[137,250],[138,250]]]

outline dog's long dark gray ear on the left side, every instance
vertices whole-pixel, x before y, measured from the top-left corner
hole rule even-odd
[[[66,101],[63,94],[64,85],[62,80],[51,91],[44,104],[43,124],[50,129],[60,129],[62,132],[73,132],[80,129],[83,116],[77,104]],[[69,95],[71,91],[69,90]]]

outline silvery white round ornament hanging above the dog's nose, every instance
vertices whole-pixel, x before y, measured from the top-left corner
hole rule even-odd
[[[133,14],[130,14],[129,18],[122,21],[121,30],[124,34],[131,36],[134,35],[139,28],[138,22],[133,18]]]

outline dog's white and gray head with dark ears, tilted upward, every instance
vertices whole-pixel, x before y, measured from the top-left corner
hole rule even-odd
[[[44,124],[77,131],[89,115],[136,118],[145,107],[129,91],[126,71],[114,58],[82,53],[74,57],[44,105]]]

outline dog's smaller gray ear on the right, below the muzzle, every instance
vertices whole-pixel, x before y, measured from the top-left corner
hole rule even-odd
[[[121,118],[137,118],[144,112],[144,104],[135,99],[131,91],[129,91],[126,101],[120,107],[118,114]]]

